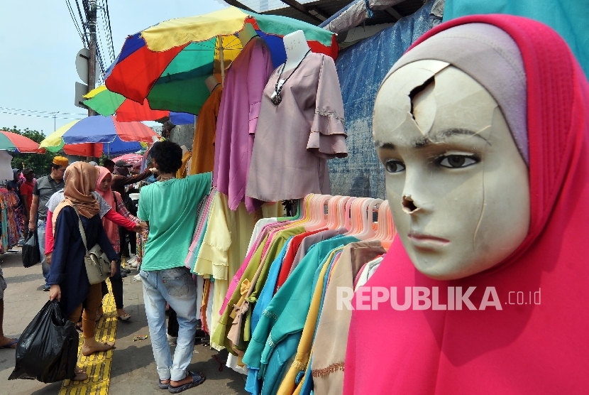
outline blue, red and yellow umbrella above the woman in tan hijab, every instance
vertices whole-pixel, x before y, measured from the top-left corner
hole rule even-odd
[[[117,155],[141,150],[138,141],[153,142],[158,134],[141,122],[118,122],[114,117],[87,117],[72,121],[41,141],[39,148],[84,156]],[[68,152],[69,151],[69,152]]]

